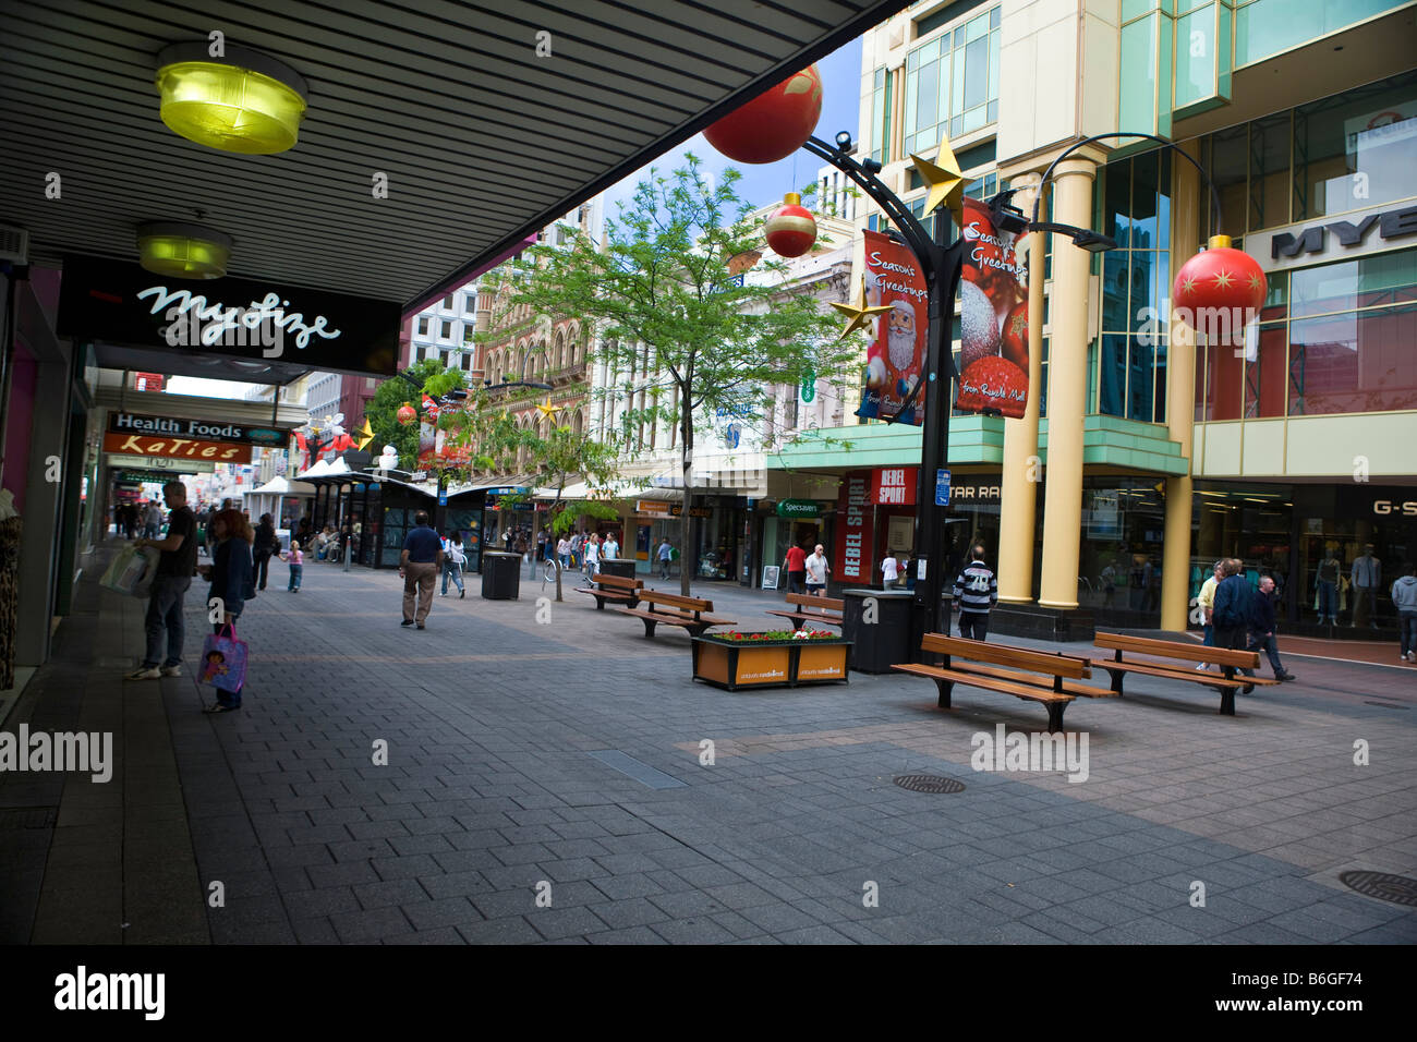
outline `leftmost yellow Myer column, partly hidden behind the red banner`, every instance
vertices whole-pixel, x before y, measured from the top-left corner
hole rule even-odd
[[[1037,174],[1030,174],[1034,187]],[[1015,204],[1029,213],[1029,193]],[[1020,193],[1023,196],[1023,193]],[[1003,489],[999,505],[999,600],[1012,604],[1033,601],[1033,532],[1037,520],[1039,482],[1039,391],[1043,381],[1043,250],[1041,231],[1027,238],[1029,247],[1029,403],[1022,420],[1003,421]]]

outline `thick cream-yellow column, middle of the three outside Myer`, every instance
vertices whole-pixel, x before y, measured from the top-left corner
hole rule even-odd
[[[1053,220],[1093,225],[1097,166],[1081,156],[1053,172]],[[1053,237],[1053,336],[1049,342],[1049,466],[1043,491],[1044,608],[1077,607],[1083,534],[1083,417],[1087,410],[1087,288],[1091,254]]]

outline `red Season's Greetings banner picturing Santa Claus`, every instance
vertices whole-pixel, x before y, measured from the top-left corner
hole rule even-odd
[[[866,235],[866,303],[888,305],[880,316],[876,340],[866,352],[866,394],[856,415],[886,420],[920,383],[925,362],[930,303],[915,255],[879,231]],[[901,422],[920,424],[922,396],[917,396]]]

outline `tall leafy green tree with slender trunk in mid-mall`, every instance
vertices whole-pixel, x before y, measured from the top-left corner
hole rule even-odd
[[[650,167],[619,218],[606,220],[604,244],[563,225],[565,245],[533,247],[509,278],[512,303],[594,322],[592,352],[615,374],[597,393],[625,404],[618,441],[633,448],[631,432],[655,420],[677,428],[689,549],[699,542],[694,415],[758,414],[765,388],[809,373],[845,384],[860,342],[836,339],[825,306],[782,284],[784,264],[730,274],[731,258],[762,248],[761,224],[734,190],[737,170],[711,184],[693,155],[686,163],[669,177]],[[691,578],[686,568],[684,594]]]

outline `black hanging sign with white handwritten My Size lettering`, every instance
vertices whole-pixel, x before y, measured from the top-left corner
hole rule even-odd
[[[394,376],[400,305],[268,281],[201,282],[92,257],[64,261],[60,336]]]

